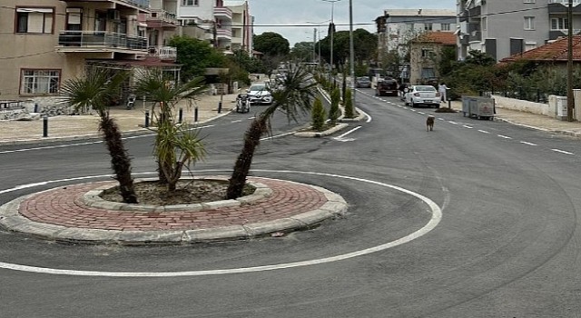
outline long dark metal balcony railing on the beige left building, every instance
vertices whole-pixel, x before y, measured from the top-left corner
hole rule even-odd
[[[58,35],[58,45],[72,48],[147,50],[147,39],[142,36],[104,31],[61,31]]]

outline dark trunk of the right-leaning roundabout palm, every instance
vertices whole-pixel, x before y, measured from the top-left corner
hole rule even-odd
[[[246,131],[241,154],[238,155],[236,164],[234,164],[234,171],[232,172],[230,183],[228,184],[226,199],[236,199],[242,195],[244,184],[246,184],[246,177],[251,170],[254,151],[261,143],[261,136],[266,132],[266,130],[267,117],[261,116],[254,119],[251,126]]]

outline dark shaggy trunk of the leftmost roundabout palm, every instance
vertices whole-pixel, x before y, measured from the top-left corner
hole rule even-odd
[[[101,117],[99,129],[103,132],[103,140],[111,155],[111,167],[115,173],[114,179],[119,182],[119,189],[125,204],[137,204],[137,195],[133,188],[131,176],[131,159],[125,150],[119,126],[108,115]]]

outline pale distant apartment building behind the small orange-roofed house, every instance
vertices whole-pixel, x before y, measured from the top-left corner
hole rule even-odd
[[[406,55],[409,42],[423,33],[456,31],[457,14],[453,8],[386,9],[376,23],[381,60],[382,55],[393,51]]]

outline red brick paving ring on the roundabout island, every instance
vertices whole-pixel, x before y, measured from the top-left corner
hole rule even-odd
[[[303,184],[249,178],[272,190],[268,198],[202,211],[125,212],[86,206],[81,197],[103,183],[74,184],[34,194],[20,204],[19,213],[34,222],[68,227],[118,231],[181,231],[267,222],[317,209],[327,202],[324,194]]]

